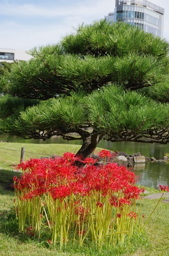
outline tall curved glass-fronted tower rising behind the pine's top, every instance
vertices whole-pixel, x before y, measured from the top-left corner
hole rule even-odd
[[[114,21],[123,20],[146,32],[162,37],[163,14],[163,8],[146,0],[116,0]],[[105,18],[107,19],[107,16]]]

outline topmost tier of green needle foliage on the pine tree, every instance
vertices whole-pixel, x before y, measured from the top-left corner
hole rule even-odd
[[[147,34],[139,28],[133,28],[123,22],[106,23],[105,20],[96,20],[94,24],[82,24],[75,34],[65,36],[61,40],[65,52],[104,56],[123,57],[128,53],[138,55],[152,55],[164,57],[168,52],[165,40]]]

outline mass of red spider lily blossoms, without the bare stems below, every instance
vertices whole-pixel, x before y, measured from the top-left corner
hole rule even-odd
[[[103,150],[99,156],[111,154]],[[74,164],[76,160],[74,154],[65,153],[63,157],[31,159],[19,164],[23,175],[19,179],[14,177],[14,185],[22,191],[20,199],[31,201],[36,196],[50,195],[53,200],[62,201],[71,194],[83,197],[98,191],[102,197],[109,195],[110,205],[120,207],[139,198],[140,189],[134,186],[137,179],[126,167],[116,163],[94,165],[93,159],[87,158],[85,167],[79,168]],[[101,207],[99,202],[97,206]]]

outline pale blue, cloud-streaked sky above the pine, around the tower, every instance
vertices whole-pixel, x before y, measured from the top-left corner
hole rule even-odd
[[[165,9],[164,38],[169,41],[168,0],[150,2]],[[113,12],[115,0],[0,0],[0,48],[29,50],[59,42],[79,24]]]

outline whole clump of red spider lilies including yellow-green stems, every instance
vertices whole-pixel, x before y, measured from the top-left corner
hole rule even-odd
[[[111,234],[115,229],[119,232],[118,225],[121,230],[126,230],[125,218],[127,225],[133,223],[128,218],[136,219],[133,212],[135,201],[143,190],[135,186],[137,178],[131,170],[116,163],[105,164],[106,158],[113,157],[109,151],[103,150],[99,156],[104,158],[100,165],[93,158],[80,160],[72,153],[19,164],[18,169],[23,173],[20,178],[14,177],[19,230],[25,229],[25,223],[31,223],[27,234],[33,236],[39,232],[40,236],[41,223],[44,222],[52,232],[52,239],[47,243],[55,245],[60,239],[61,246],[72,232],[74,241],[77,235],[82,243],[90,232],[89,237],[96,237],[98,243],[104,223]],[[77,161],[85,166],[78,167]],[[129,226],[127,228],[132,230]]]

